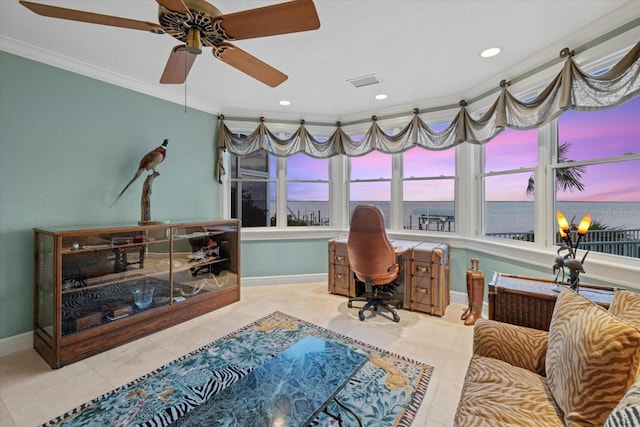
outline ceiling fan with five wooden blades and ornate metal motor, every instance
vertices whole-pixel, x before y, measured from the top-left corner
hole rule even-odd
[[[202,47],[211,47],[213,56],[237,70],[276,87],[287,75],[229,43],[229,41],[297,33],[320,28],[313,0],[294,0],[271,6],[223,15],[205,0],[156,0],[158,24],[66,9],[20,0],[20,4],[51,18],[110,25],[133,30],[169,34],[182,44],[169,55],[160,83],[184,83]]]

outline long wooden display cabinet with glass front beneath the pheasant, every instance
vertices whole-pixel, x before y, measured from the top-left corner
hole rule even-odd
[[[53,368],[240,299],[238,220],[34,232],[34,348]]]

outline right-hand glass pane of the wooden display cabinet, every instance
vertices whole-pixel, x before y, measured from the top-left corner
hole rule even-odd
[[[173,233],[175,302],[238,284],[235,223],[179,226]]]

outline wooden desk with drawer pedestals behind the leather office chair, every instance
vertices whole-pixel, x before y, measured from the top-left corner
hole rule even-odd
[[[403,308],[443,316],[450,301],[449,246],[412,240],[391,240],[401,265],[397,298]],[[329,240],[329,293],[357,297],[364,283],[349,267],[347,237]]]

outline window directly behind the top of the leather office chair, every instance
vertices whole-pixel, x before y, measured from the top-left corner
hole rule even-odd
[[[389,228],[392,160],[393,156],[379,151],[350,159],[349,214],[357,205],[376,205],[384,213],[385,227]]]

